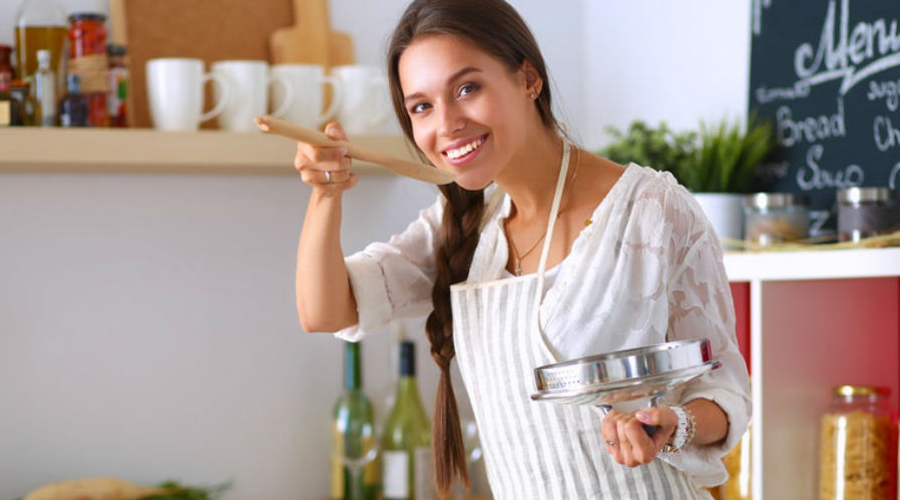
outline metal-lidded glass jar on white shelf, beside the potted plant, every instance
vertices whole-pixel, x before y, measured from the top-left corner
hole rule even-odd
[[[809,234],[809,209],[800,195],[755,193],[744,205],[744,239],[764,247],[805,239]]]

